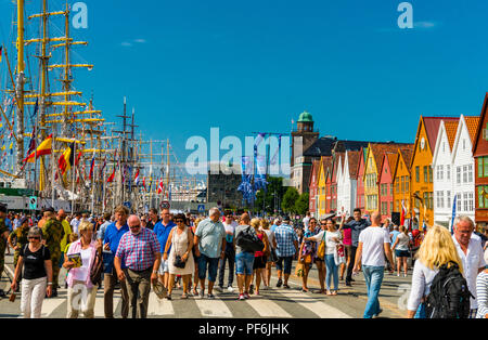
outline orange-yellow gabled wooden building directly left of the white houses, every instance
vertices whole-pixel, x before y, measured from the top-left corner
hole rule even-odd
[[[412,160],[410,162],[410,199],[419,226],[434,223],[434,179],[432,160],[441,121],[455,121],[452,117],[423,117],[419,121]]]

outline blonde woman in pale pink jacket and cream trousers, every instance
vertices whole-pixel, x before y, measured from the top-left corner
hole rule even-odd
[[[69,246],[63,263],[69,271],[66,279],[67,317],[77,318],[79,312],[82,312],[86,318],[93,318],[98,286],[93,286],[90,272],[95,262],[97,251],[101,251],[102,245],[93,240],[93,224],[90,222],[80,222],[78,232],[80,238]],[[81,266],[77,266],[73,257],[81,260]]]

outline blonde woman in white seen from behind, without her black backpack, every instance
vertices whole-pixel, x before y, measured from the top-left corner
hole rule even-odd
[[[434,277],[439,267],[451,262],[458,264],[459,271],[463,273],[463,265],[455,249],[449,231],[439,225],[428,228],[428,233],[415,256],[413,267],[412,288],[407,305],[408,318],[425,318],[425,300],[431,291]]]

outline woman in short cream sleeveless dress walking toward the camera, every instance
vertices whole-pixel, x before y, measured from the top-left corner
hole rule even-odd
[[[183,277],[183,293],[181,299],[188,299],[190,277],[195,271],[195,264],[193,260],[193,235],[191,230],[187,226],[187,217],[183,213],[179,213],[175,217],[176,227],[171,230],[168,236],[168,240],[165,247],[164,260],[168,261],[169,252],[169,287],[166,299],[171,300],[172,286],[175,285],[175,276],[181,275]],[[180,256],[181,261],[184,262],[184,267],[180,269],[175,265],[176,257]]]

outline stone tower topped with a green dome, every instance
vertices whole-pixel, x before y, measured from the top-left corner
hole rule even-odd
[[[291,180],[298,193],[308,192],[308,180],[311,171],[311,159],[303,154],[319,139],[319,131],[313,130],[313,117],[303,112],[292,131]]]

